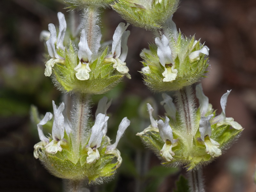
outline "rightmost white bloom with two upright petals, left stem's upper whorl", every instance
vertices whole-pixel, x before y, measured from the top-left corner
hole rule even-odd
[[[129,71],[126,63],[124,62],[128,53],[127,40],[130,35],[130,31],[125,31],[128,26],[129,23],[127,23],[126,26],[124,23],[119,23],[113,35],[112,54],[110,55],[111,58],[106,58],[108,62],[113,62],[113,68],[116,68],[116,70],[122,74],[127,74]]]

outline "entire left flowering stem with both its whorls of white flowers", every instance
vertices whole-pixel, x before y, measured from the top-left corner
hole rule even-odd
[[[55,85],[64,93],[71,92],[72,96],[66,109],[64,102],[58,106],[52,101],[53,114],[47,112],[39,120],[37,130],[41,141],[34,146],[34,157],[40,159],[53,175],[66,180],[64,189],[68,192],[88,192],[86,184],[99,184],[113,177],[122,163],[116,147],[130,125],[130,120],[124,117],[112,144],[106,135],[107,109],[111,104],[106,97],[99,101],[94,125],[91,123],[91,96],[107,92],[124,75],[130,76],[124,62],[128,51],[130,31],[126,29],[129,24],[117,26],[111,51],[108,46],[100,49],[99,10],[111,0],[108,3],[96,1],[69,2],[71,7],[74,4],[81,8],[82,20],[78,27],[75,29],[75,20],[71,20],[73,30],[70,34],[65,15],[58,12],[59,30],[50,23],[45,36],[50,58],[45,63],[45,76],[52,76]],[[45,136],[45,126],[52,126],[50,136]]]

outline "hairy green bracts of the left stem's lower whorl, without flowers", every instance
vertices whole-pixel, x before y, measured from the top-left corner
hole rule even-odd
[[[105,154],[106,148],[110,144],[108,136],[104,136],[101,146],[98,148],[100,158],[92,164],[86,163],[86,158],[88,157],[86,147],[82,148],[80,145],[79,152],[76,153],[71,137],[66,133],[64,140],[66,141],[60,144],[62,151],[58,151],[56,154],[47,153],[42,141],[36,144],[41,145],[37,148],[40,161],[54,176],[62,179],[101,183],[104,178],[106,179],[106,177],[110,177],[115,173],[119,164],[116,156]]]

